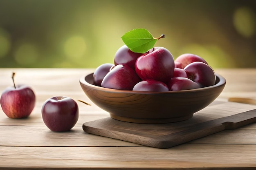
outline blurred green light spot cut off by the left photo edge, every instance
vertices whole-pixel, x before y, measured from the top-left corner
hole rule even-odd
[[[0,28],[0,58],[5,57],[11,48],[9,34]]]

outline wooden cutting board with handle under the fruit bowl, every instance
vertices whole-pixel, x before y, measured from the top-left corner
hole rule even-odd
[[[225,129],[256,122],[256,105],[215,102],[186,121],[136,124],[110,117],[85,122],[85,132],[155,148],[170,148]]]

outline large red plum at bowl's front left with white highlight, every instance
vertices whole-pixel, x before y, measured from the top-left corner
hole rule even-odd
[[[141,79],[127,64],[118,64],[103,78],[101,87],[132,90]]]

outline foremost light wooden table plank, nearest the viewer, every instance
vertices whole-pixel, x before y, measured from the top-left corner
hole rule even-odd
[[[150,147],[0,147],[4,170],[24,169],[150,169],[249,170],[256,167],[256,145],[184,144]],[[15,163],[15,164],[13,164]],[[1,169],[1,168],[0,168]]]

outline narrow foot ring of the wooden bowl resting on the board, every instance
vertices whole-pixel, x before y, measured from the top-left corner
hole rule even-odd
[[[177,121],[184,121],[193,117],[193,114],[186,115],[183,117],[173,117],[173,118],[165,118],[165,119],[140,119],[140,118],[131,118],[131,117],[122,117],[117,116],[110,113],[110,117],[119,121],[126,121],[130,123],[138,123],[138,124],[166,124],[173,123]]]

